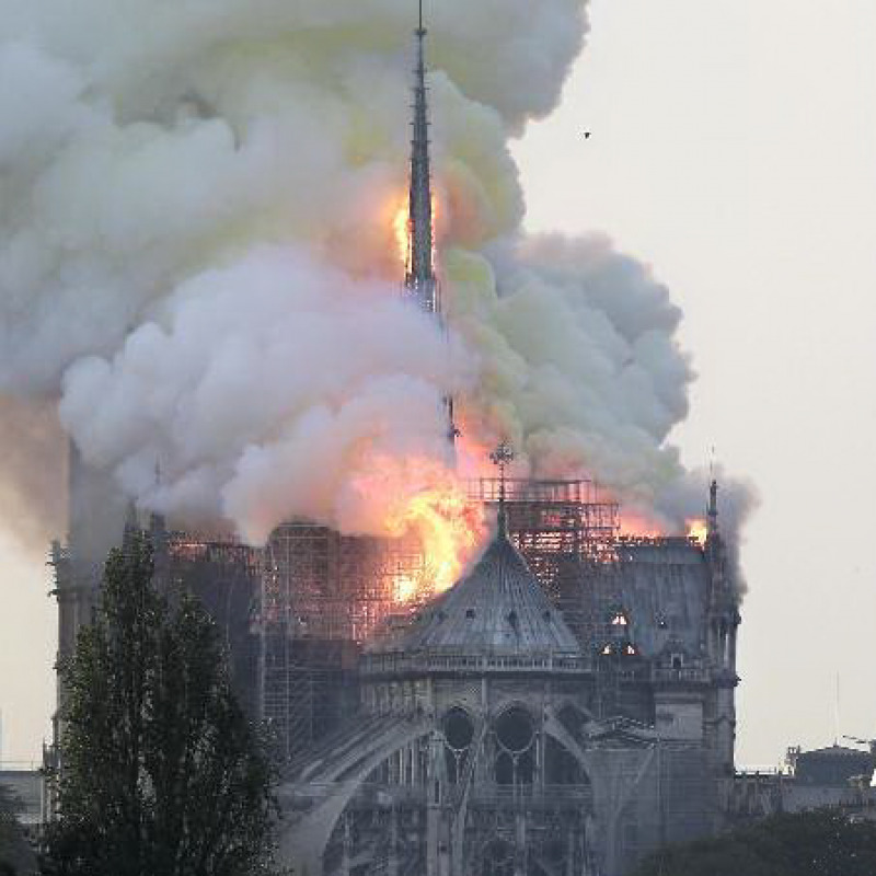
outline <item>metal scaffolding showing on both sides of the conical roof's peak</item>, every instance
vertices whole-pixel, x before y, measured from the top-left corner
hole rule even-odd
[[[511,538],[576,634],[591,642],[611,592],[592,578],[614,574],[616,503],[590,481],[506,483]],[[469,484],[473,504],[494,508],[498,497],[499,479]],[[383,625],[404,623],[429,598],[425,569],[413,535],[350,537],[303,522],[273,533],[261,587],[261,714],[284,758],[336,724],[357,648]],[[417,599],[404,601],[412,583]]]

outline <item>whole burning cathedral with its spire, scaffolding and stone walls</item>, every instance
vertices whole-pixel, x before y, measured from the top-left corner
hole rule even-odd
[[[442,323],[426,36],[420,13],[403,295]],[[702,537],[632,537],[593,482],[512,477],[511,458],[503,445],[466,483],[453,512],[485,521],[469,527],[480,558],[441,586],[440,545],[416,532],[295,519],[252,548],[128,517],[151,529],[157,574],[208,606],[275,731],[296,873],[623,876],[722,825],[740,616],[717,484]],[[61,656],[97,599],[95,533],[126,514],[74,450],[70,496]]]

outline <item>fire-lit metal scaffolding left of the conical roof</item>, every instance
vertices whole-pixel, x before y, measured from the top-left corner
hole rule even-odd
[[[261,714],[283,759],[337,724],[359,646],[416,608],[401,601],[401,588],[423,572],[413,538],[342,535],[309,523],[272,534],[261,590]]]

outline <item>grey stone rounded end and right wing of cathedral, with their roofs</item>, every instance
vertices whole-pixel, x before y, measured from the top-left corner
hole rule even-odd
[[[639,542],[581,642],[506,531],[364,650],[359,707],[293,762],[283,855],[309,876],[622,876],[716,829],[735,638],[713,487],[704,549]]]

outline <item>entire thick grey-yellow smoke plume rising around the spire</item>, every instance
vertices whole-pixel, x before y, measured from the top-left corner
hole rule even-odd
[[[475,442],[682,525],[681,314],[607,240],[520,232],[507,143],[556,104],[585,3],[429,12],[449,346],[399,301],[414,5],[0,2],[0,392],[59,400],[142,507],[253,541],[379,531],[350,483],[440,464],[449,392]]]

